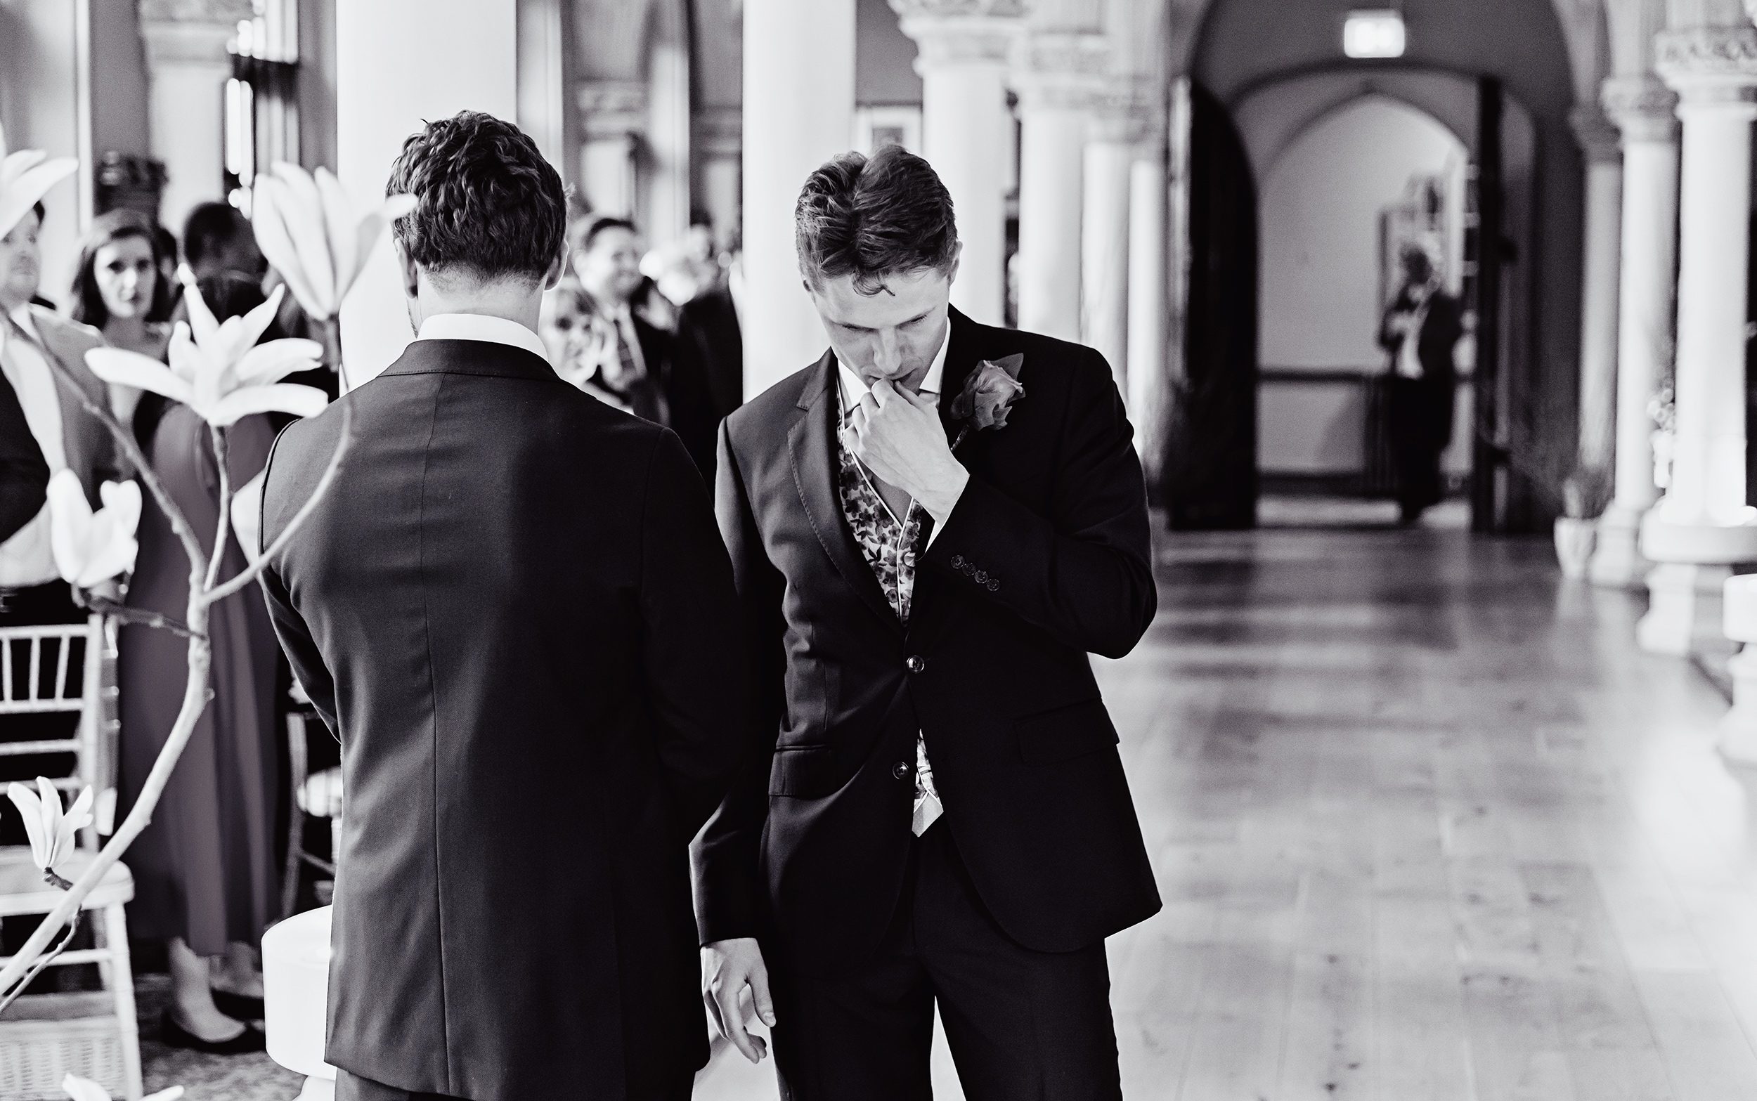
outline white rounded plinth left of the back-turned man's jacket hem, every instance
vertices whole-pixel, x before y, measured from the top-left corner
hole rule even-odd
[[[262,934],[262,1003],[269,1059],[306,1075],[300,1101],[336,1096],[336,1068],[323,1062],[329,1022],[330,906],[293,915]]]

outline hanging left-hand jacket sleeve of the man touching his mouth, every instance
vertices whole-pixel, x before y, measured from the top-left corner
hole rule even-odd
[[[733,583],[743,611],[740,650],[748,655],[754,718],[747,730],[745,766],[691,850],[696,929],[703,945],[757,936],[763,929],[763,824],[768,818],[775,730],[785,708],[784,581],[763,551],[750,495],[724,423],[719,446],[713,511],[733,560]]]

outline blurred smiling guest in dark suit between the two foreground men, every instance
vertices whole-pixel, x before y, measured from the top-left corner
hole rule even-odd
[[[705,478],[713,476],[719,418],[696,360],[675,360],[675,337],[634,309],[641,291],[640,239],[624,218],[596,218],[575,234],[585,335],[562,378],[678,434]]]

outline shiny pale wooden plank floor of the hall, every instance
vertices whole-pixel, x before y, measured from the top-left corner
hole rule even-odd
[[[1165,896],[1110,941],[1130,1099],[1757,1096],[1757,774],[1638,597],[1432,529],[1174,534],[1160,585],[1100,669]]]

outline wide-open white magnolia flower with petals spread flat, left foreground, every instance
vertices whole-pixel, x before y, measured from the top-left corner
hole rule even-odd
[[[329,402],[322,390],[279,379],[316,367],[323,346],[299,339],[257,344],[274,321],[286,288],[274,288],[267,302],[241,318],[227,318],[221,325],[207,309],[195,281],[184,277],[184,283],[183,300],[190,320],[177,321],[170,334],[170,365],[137,351],[93,348],[86,353],[86,365],[93,374],[105,383],[139,386],[183,402],[216,428],[230,427],[251,413],[322,413]]]

